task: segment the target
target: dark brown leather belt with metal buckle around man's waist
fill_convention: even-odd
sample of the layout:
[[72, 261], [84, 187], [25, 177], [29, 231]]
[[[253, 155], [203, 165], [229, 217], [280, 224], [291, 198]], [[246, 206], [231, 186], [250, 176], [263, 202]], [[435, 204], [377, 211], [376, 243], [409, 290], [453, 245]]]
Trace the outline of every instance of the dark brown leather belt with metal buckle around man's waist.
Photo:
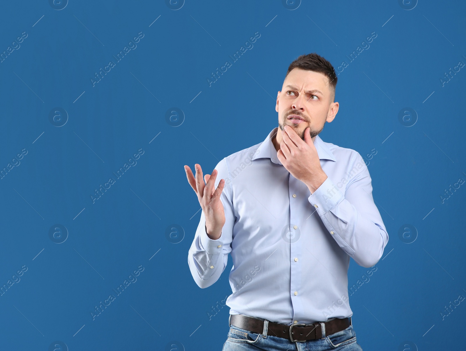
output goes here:
[[[351, 317], [335, 318], [324, 322], [325, 335], [344, 330], [351, 324]], [[264, 320], [244, 315], [230, 315], [229, 323], [235, 327], [249, 330], [253, 333], [262, 334], [264, 331]], [[293, 323], [291, 325], [268, 322], [267, 335], [282, 337], [292, 342], [304, 342], [322, 338], [322, 326], [320, 322], [312, 324]]]

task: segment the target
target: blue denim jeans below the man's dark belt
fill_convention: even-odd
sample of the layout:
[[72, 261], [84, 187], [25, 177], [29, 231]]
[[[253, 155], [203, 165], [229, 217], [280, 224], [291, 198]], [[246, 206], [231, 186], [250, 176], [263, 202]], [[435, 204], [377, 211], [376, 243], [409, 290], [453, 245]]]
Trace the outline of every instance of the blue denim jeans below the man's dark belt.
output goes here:
[[292, 342], [291, 340], [274, 335], [267, 335], [267, 323], [264, 323], [262, 333], [252, 333], [230, 324], [230, 330], [222, 351], [362, 351], [363, 348], [356, 342], [356, 332], [351, 324], [345, 330], [325, 335], [322, 330], [322, 339], [305, 342]]

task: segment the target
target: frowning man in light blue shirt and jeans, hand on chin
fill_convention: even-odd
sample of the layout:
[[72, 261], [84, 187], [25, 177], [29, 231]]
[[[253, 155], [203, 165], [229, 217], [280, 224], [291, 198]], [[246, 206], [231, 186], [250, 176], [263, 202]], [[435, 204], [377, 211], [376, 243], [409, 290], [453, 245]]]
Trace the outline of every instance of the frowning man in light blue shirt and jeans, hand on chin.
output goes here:
[[195, 177], [185, 166], [202, 207], [188, 255], [194, 280], [209, 287], [233, 258], [223, 351], [362, 350], [349, 258], [373, 267], [388, 234], [361, 155], [318, 136], [338, 112], [336, 82], [326, 59], [299, 56], [277, 94], [278, 127], [264, 141], [227, 156], [204, 180], [199, 164]]

